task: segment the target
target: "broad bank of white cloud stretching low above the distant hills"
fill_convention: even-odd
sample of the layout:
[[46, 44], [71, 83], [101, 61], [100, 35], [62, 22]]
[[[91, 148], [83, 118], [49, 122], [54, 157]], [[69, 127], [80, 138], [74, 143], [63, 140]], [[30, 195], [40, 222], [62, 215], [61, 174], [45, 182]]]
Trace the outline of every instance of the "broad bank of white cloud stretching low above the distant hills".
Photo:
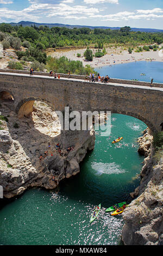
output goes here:
[[[0, 3], [5, 0], [0, 0]], [[32, 3], [32, 0], [28, 0]], [[0, 8], [0, 19], [3, 22], [8, 20], [18, 22], [21, 20], [28, 20], [34, 22], [41, 22], [43, 18], [53, 19], [51, 23], [57, 22], [57, 19], [65, 20], [84, 20], [89, 19], [96, 22], [98, 21], [131, 21], [131, 20], [155, 20], [163, 18], [163, 9], [155, 8], [153, 10], [135, 10], [135, 11], [122, 11], [119, 13], [109, 14], [109, 9], [99, 8], [99, 6], [90, 5], [75, 5], [69, 4], [74, 0], [33, 0], [28, 8], [23, 10], [10, 10], [9, 8]], [[112, 2], [118, 3], [118, 0], [84, 0], [85, 2]], [[6, 0], [7, 2], [7, 0]], [[54, 4], [55, 2], [55, 4]], [[94, 24], [94, 23], [93, 23]], [[121, 25], [121, 23], [120, 23]], [[95, 24], [96, 26], [96, 24]]]

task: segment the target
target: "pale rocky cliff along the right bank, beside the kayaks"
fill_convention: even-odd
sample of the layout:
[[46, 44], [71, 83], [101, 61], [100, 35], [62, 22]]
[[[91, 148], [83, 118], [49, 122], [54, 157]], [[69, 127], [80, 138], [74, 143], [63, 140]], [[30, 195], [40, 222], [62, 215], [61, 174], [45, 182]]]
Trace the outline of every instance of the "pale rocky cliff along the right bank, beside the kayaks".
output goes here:
[[138, 151], [146, 158], [140, 186], [131, 193], [136, 198], [122, 214], [122, 240], [124, 245], [162, 245], [163, 157], [156, 157], [149, 129], [143, 131], [138, 142]]

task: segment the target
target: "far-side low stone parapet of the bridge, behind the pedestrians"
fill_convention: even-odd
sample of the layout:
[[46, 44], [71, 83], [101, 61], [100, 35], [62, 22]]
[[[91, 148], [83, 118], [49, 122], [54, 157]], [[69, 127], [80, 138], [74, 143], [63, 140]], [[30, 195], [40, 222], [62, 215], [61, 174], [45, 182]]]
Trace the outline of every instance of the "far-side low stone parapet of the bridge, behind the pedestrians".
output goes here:
[[[15, 73], [15, 74], [27, 74], [29, 75], [28, 70], [12, 70], [12, 69], [0, 69], [0, 72], [7, 72], [7, 73]], [[58, 75], [59, 73], [57, 73]], [[40, 72], [40, 71], [34, 71], [34, 75], [39, 75], [39, 76], [49, 76], [49, 73], [47, 72]], [[75, 78], [77, 80], [85, 80], [85, 75], [68, 75], [68, 74], [60, 74], [60, 78]], [[96, 78], [96, 77], [95, 77]], [[144, 82], [144, 81], [134, 81], [134, 80], [123, 80], [123, 79], [118, 79], [118, 78], [110, 78], [109, 83], [119, 83], [119, 84], [133, 84], [136, 86], [151, 86], [151, 81], [150, 82]], [[153, 87], [162, 87], [163, 88], [163, 83], [153, 83]]]

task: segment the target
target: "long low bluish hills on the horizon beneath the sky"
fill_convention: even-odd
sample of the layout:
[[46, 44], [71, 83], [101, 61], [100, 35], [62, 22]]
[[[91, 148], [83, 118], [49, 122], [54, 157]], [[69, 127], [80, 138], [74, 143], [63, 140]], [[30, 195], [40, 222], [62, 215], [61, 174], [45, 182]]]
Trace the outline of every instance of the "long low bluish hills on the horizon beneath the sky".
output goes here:
[[[52, 27], [66, 27], [66, 28], [90, 28], [90, 29], [94, 29], [94, 28], [101, 28], [101, 29], [108, 29], [110, 28], [111, 30], [115, 30], [115, 29], [120, 29], [120, 27], [103, 27], [103, 26], [99, 26], [99, 27], [96, 27], [96, 26], [81, 26], [81, 25], [68, 25], [68, 24], [60, 24], [60, 23], [36, 23], [36, 22], [32, 22], [32, 21], [20, 21], [18, 23], [14, 23], [14, 22], [11, 22], [10, 23], [11, 26], [20, 26], [22, 25], [23, 27], [30, 27], [31, 25], [32, 26], [36, 26], [36, 27], [39, 27], [41, 25], [43, 26], [48, 26], [49, 28], [52, 28]], [[163, 32], [162, 29], [154, 29], [154, 28], [131, 28], [131, 31], [140, 31], [140, 32], [151, 32], [151, 33], [159, 33], [159, 32]]]

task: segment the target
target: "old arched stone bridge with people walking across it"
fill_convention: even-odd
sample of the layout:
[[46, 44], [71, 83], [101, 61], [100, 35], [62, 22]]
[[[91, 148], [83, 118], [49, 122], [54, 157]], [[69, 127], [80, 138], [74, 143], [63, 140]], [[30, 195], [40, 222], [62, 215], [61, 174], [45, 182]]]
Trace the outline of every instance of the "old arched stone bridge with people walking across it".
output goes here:
[[[17, 72], [17, 73], [16, 73]], [[111, 111], [142, 120], [152, 132], [163, 123], [163, 84], [110, 79], [109, 83], [84, 81], [83, 76], [61, 75], [60, 79], [35, 72], [0, 70], [0, 102], [8, 102], [19, 118], [33, 111], [35, 100], [53, 111], [66, 106], [75, 111]], [[10, 102], [9, 102], [10, 100]], [[1, 107], [0, 107], [1, 109]]]

